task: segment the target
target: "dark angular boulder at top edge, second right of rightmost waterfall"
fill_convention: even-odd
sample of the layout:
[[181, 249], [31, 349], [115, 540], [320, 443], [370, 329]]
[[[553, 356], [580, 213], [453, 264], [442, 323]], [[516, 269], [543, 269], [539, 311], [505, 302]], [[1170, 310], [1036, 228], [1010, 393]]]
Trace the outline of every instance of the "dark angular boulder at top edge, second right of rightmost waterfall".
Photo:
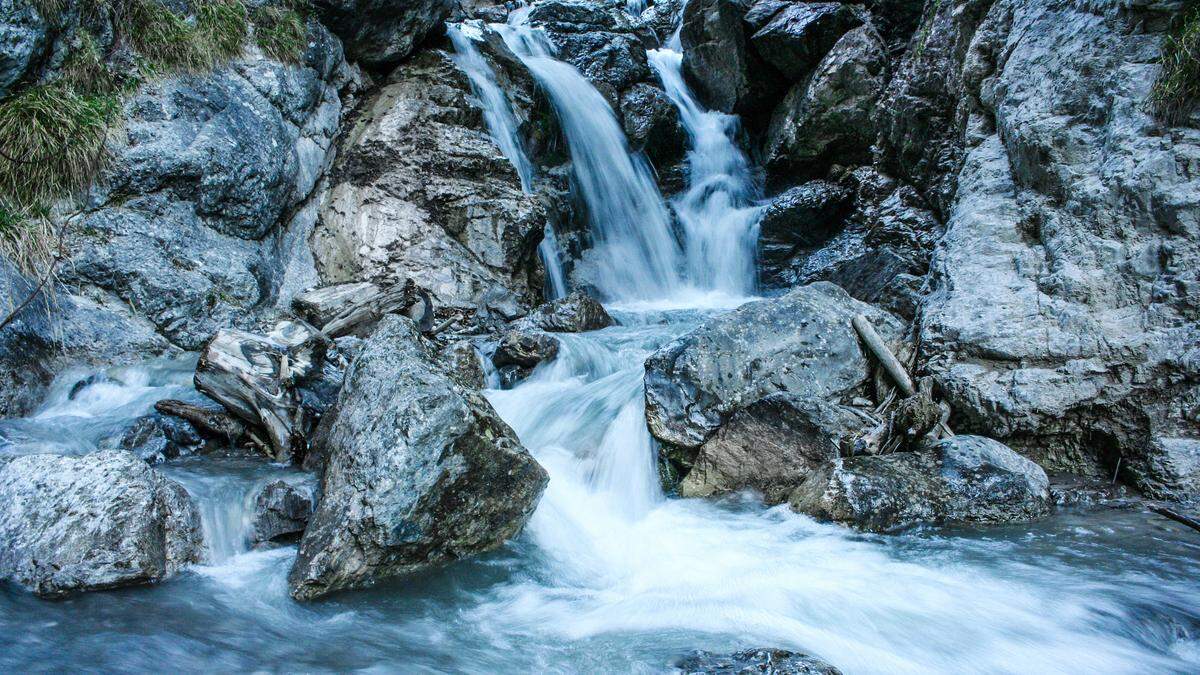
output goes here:
[[760, 0], [751, 10], [757, 11], [749, 20], [762, 25], [750, 36], [750, 43], [788, 82], [806, 76], [846, 31], [863, 24], [841, 2]]

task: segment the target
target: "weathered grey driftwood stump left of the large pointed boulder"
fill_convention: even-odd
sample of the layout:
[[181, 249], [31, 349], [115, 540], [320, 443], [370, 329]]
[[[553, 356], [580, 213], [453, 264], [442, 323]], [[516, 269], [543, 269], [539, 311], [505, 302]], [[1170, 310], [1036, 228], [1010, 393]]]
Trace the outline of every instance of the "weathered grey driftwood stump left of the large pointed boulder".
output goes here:
[[244, 330], [221, 330], [204, 346], [196, 388], [229, 412], [260, 428], [257, 435], [276, 461], [292, 461], [304, 449], [308, 411], [294, 388], [320, 368], [324, 344], [307, 339], [286, 344]]

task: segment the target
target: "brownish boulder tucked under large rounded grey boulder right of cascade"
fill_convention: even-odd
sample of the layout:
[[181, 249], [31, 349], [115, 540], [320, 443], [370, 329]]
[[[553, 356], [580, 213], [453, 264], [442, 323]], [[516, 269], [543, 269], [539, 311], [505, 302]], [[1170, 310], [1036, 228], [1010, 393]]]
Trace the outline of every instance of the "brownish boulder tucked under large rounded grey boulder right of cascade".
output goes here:
[[823, 465], [848, 455], [870, 423], [850, 408], [794, 394], [770, 394], [736, 411], [696, 454], [679, 495], [707, 497], [746, 488], [768, 503]]

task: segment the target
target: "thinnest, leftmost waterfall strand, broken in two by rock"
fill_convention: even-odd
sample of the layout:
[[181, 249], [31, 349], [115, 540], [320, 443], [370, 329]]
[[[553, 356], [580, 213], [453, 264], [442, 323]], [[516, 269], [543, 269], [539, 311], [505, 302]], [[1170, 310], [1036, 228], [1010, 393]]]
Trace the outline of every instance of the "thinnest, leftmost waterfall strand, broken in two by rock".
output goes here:
[[[462, 24], [446, 24], [446, 34], [455, 49], [455, 64], [467, 73], [472, 90], [479, 97], [484, 107], [484, 121], [492, 139], [499, 147], [500, 153], [512, 163], [521, 178], [521, 190], [524, 193], [533, 191], [533, 162], [526, 154], [521, 143], [516, 117], [512, 114], [512, 106], [508, 96], [496, 82], [496, 72], [487, 60], [475, 47], [475, 40], [482, 37], [481, 25], [474, 22]], [[547, 295], [551, 300], [566, 294], [566, 276], [563, 273], [563, 261], [558, 250], [558, 237], [554, 226], [546, 222], [546, 229], [541, 243], [538, 244], [538, 253], [541, 256], [542, 265], [546, 268]]]

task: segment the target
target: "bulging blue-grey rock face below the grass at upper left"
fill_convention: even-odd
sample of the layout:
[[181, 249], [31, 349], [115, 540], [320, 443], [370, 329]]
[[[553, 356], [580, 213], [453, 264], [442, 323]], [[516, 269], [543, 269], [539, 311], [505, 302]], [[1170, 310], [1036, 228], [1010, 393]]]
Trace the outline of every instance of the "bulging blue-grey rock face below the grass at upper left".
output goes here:
[[62, 280], [190, 350], [270, 310], [311, 267], [281, 226], [311, 225], [290, 214], [325, 167], [349, 78], [336, 38], [312, 24], [308, 44], [295, 65], [247, 58], [144, 85], [68, 229]]

